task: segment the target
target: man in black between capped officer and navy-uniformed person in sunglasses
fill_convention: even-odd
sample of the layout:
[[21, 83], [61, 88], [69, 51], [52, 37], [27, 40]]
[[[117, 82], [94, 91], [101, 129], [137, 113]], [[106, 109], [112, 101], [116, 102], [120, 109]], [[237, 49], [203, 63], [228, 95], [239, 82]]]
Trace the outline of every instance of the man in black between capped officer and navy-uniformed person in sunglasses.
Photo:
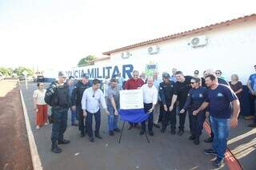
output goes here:
[[[184, 76], [181, 71], [177, 71], [175, 73], [176, 77], [176, 90], [178, 94], [178, 108], [182, 109], [186, 103], [186, 97], [191, 88], [190, 81], [192, 79], [191, 76]], [[179, 130], [178, 136], [182, 136], [184, 133], [184, 125], [186, 121], [186, 111], [184, 113], [179, 113]]]

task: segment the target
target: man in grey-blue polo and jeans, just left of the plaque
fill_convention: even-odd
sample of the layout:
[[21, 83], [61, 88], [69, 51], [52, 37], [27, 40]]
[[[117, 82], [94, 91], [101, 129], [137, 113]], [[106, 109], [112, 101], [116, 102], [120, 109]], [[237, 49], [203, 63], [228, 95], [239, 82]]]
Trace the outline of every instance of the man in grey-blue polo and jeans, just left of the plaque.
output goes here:
[[106, 89], [106, 105], [110, 112], [108, 115], [109, 134], [114, 136], [114, 132], [120, 132], [118, 128], [118, 110], [120, 109], [120, 93], [122, 86], [117, 82], [117, 79], [110, 80], [110, 87]]

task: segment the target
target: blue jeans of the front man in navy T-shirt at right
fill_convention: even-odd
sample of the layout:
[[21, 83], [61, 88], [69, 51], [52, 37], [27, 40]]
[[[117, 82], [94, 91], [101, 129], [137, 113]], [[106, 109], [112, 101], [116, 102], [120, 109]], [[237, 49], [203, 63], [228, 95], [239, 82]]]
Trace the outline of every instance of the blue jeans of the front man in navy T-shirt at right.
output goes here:
[[230, 132], [230, 119], [210, 117], [211, 129], [214, 132], [213, 149], [217, 152], [218, 160], [224, 158], [227, 148], [227, 138]]

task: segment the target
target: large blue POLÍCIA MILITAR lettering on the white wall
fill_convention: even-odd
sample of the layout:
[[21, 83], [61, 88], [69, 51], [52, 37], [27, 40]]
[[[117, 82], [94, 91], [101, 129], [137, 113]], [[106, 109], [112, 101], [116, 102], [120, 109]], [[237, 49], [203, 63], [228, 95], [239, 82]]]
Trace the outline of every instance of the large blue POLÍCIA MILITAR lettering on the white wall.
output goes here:
[[74, 70], [66, 71], [66, 74], [70, 77], [80, 78], [83, 73], [89, 78], [104, 78], [104, 77], [116, 77], [118, 73], [122, 73], [122, 77], [130, 78], [132, 77], [131, 73], [134, 71], [133, 65], [114, 65], [114, 66], [106, 66], [106, 67], [93, 67], [93, 68], [76, 68]]

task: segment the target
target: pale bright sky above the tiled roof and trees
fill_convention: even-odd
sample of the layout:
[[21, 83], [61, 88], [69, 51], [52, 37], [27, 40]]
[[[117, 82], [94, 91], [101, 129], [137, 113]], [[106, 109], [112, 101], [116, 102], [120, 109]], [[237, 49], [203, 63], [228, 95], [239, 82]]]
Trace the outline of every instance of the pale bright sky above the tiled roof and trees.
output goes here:
[[0, 0], [0, 66], [82, 57], [256, 13], [254, 0]]

